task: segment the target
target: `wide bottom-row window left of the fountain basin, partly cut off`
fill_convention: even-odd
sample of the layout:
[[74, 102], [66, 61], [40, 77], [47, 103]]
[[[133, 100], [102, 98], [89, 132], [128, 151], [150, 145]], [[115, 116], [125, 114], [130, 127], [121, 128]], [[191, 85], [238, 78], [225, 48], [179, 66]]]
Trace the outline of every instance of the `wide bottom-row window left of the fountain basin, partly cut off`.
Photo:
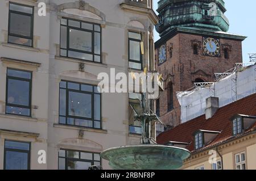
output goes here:
[[100, 154], [73, 150], [59, 151], [59, 170], [88, 170], [92, 165], [101, 166]]

